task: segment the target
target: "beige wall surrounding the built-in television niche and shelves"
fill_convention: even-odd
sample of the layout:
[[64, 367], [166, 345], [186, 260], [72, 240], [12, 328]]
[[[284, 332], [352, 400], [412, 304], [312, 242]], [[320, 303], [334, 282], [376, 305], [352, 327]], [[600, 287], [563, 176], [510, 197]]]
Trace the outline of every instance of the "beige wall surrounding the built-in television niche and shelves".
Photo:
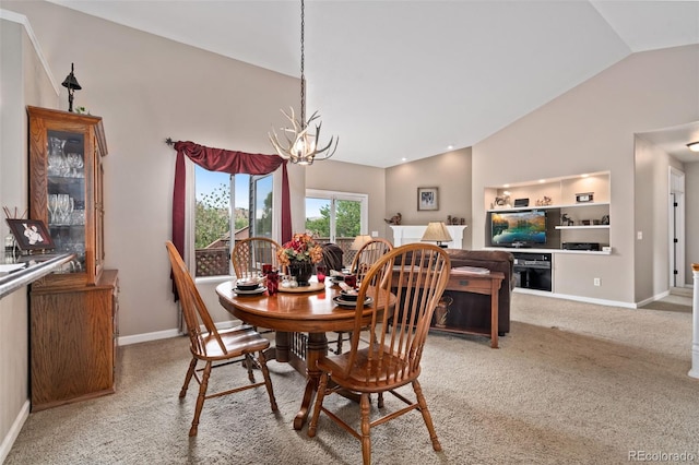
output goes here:
[[[557, 255], [560, 293], [631, 305], [652, 296], [652, 287], [635, 278], [636, 270], [652, 265], [635, 260], [635, 199], [651, 189], [635, 183], [635, 133], [698, 120], [697, 102], [699, 46], [635, 53], [477, 143], [474, 248], [485, 243], [486, 186], [609, 171], [614, 253]], [[603, 285], [593, 286], [593, 277]]]

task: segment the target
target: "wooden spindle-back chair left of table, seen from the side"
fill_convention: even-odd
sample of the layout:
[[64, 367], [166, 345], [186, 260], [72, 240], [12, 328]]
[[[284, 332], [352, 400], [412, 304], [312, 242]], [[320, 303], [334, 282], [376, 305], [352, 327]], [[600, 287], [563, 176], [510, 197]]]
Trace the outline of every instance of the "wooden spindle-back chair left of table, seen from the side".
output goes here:
[[[225, 331], [218, 331], [209, 314], [209, 310], [206, 310], [206, 306], [201, 299], [197, 287], [194, 286], [194, 281], [189, 274], [187, 265], [185, 265], [182, 258], [175, 248], [175, 245], [167, 241], [166, 247], [167, 253], [170, 258], [170, 264], [173, 266], [173, 275], [175, 276], [175, 285], [177, 286], [177, 291], [179, 294], [182, 314], [185, 315], [185, 322], [187, 324], [187, 332], [189, 334], [190, 342], [189, 349], [192, 354], [192, 360], [189, 363], [189, 369], [185, 377], [185, 384], [179, 392], [179, 397], [185, 397], [187, 394], [187, 388], [189, 386], [192, 378], [194, 378], [199, 383], [199, 396], [197, 397], [194, 419], [192, 420], [192, 427], [189, 430], [189, 436], [197, 436], [199, 417], [201, 415], [204, 401], [212, 397], [233, 394], [252, 388], [265, 386], [272, 405], [272, 412], [276, 412], [277, 406], [276, 400], [274, 398], [274, 391], [272, 390], [272, 380], [270, 379], [270, 372], [266, 368], [266, 360], [263, 354], [263, 350], [270, 346], [270, 342], [254, 331], [252, 326], [247, 324], [241, 324]], [[253, 357], [254, 353], [258, 353], [257, 358]], [[238, 360], [245, 362], [250, 384], [244, 384], [226, 391], [206, 394], [209, 377], [211, 375], [212, 369], [224, 362], [229, 363]], [[205, 363], [203, 370], [197, 369], [199, 361], [203, 361]], [[214, 365], [215, 362], [217, 365]], [[259, 367], [260, 371], [262, 371], [262, 377], [264, 378], [263, 382], [256, 382], [254, 374], [252, 372], [253, 367]], [[199, 377], [199, 371], [203, 371], [201, 378]]]

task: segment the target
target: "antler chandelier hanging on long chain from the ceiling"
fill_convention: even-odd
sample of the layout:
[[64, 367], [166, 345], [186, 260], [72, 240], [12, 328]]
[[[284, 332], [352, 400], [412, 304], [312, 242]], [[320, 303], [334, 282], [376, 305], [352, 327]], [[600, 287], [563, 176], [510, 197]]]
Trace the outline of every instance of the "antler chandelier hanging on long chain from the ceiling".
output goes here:
[[[320, 128], [322, 122], [318, 122], [316, 126], [316, 132], [309, 133], [310, 123], [320, 118], [318, 111], [315, 111], [308, 121], [306, 120], [306, 76], [304, 74], [304, 0], [301, 0], [301, 115], [299, 119], [296, 119], [294, 108], [289, 108], [289, 112], [282, 110], [282, 114], [292, 123], [291, 128], [282, 128], [284, 139], [286, 139], [286, 145], [282, 145], [276, 132], [272, 130], [269, 134], [270, 142], [280, 154], [282, 158], [286, 158], [294, 164], [299, 165], [312, 165], [316, 159], [328, 159], [335, 154], [337, 150], [337, 142], [340, 138], [331, 136], [328, 145], [322, 148], [319, 147], [318, 141], [320, 140]], [[317, 158], [319, 155], [322, 157]]]

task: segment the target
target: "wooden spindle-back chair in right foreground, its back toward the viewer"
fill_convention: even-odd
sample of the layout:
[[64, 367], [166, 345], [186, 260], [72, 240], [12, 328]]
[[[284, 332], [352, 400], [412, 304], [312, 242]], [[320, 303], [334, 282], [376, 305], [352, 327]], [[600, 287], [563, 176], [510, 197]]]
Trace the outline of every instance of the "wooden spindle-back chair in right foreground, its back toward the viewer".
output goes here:
[[[350, 350], [321, 358], [317, 362], [321, 378], [308, 426], [309, 437], [316, 436], [320, 413], [323, 412], [362, 442], [362, 457], [364, 464], [368, 465], [371, 463], [371, 428], [416, 409], [427, 426], [433, 449], [441, 451], [417, 379], [429, 323], [447, 287], [449, 270], [449, 255], [443, 249], [422, 243], [398, 247], [369, 269], [359, 287]], [[391, 310], [383, 310], [390, 308], [391, 291], [395, 295], [395, 306]], [[366, 317], [363, 313], [367, 297], [372, 297], [375, 301], [369, 303], [372, 309], [371, 324], [365, 329]], [[363, 330], [367, 337], [362, 336]], [[395, 391], [406, 384], [412, 384], [415, 400], [408, 400]], [[331, 412], [323, 405], [325, 396], [337, 393], [346, 395], [347, 391], [358, 394], [360, 398], [359, 429], [342, 419], [340, 412]], [[379, 394], [377, 406], [382, 410], [383, 393], [387, 392], [407, 406], [388, 414], [372, 412], [370, 394]]]

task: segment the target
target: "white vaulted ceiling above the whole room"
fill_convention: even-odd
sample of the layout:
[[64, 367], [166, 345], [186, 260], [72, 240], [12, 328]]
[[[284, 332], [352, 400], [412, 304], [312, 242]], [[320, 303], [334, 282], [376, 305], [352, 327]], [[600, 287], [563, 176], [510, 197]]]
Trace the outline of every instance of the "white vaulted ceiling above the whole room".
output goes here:
[[[300, 73], [300, 1], [51, 1]], [[306, 0], [307, 108], [340, 136], [333, 159], [389, 167], [471, 146], [632, 52], [698, 43], [698, 1]], [[662, 143], [680, 157], [683, 136]]]

